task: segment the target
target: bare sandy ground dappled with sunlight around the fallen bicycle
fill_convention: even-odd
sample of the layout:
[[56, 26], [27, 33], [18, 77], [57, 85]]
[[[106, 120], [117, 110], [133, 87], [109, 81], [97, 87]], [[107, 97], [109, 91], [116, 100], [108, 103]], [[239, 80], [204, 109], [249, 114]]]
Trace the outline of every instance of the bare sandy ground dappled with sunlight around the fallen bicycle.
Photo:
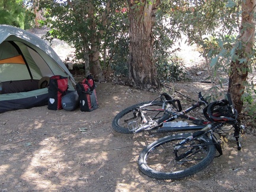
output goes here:
[[[196, 78], [196, 76], [195, 76]], [[209, 84], [169, 85], [197, 100]], [[162, 90], [166, 91], [166, 90]], [[254, 191], [256, 134], [242, 137], [242, 150], [223, 143], [223, 155], [199, 174], [183, 180], [155, 180], [137, 167], [142, 149], [164, 135], [125, 135], [111, 127], [113, 117], [159, 92], [111, 82], [97, 85], [100, 108], [91, 112], [52, 111], [47, 106], [0, 114], [1, 191]], [[177, 92], [184, 105], [194, 103]]]

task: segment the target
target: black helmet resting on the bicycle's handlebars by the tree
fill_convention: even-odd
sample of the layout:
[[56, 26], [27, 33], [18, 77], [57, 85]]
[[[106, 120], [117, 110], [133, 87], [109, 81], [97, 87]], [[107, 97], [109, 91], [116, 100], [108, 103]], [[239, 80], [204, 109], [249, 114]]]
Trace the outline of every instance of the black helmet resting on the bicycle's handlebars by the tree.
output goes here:
[[238, 116], [237, 111], [233, 111], [235, 112], [234, 114], [232, 113], [232, 106], [229, 105], [228, 100], [220, 100], [207, 105], [203, 113], [204, 117], [209, 121], [233, 123]]

